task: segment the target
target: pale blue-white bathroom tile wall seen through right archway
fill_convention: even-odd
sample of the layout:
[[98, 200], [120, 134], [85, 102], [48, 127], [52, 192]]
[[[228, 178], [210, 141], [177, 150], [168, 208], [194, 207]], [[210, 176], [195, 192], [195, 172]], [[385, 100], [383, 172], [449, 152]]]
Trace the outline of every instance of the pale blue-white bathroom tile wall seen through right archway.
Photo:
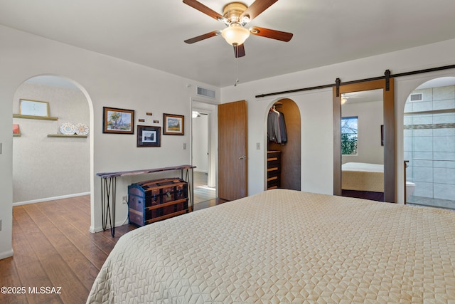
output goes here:
[[423, 100], [405, 105], [406, 178], [416, 184], [414, 196], [455, 200], [455, 85], [412, 93]]

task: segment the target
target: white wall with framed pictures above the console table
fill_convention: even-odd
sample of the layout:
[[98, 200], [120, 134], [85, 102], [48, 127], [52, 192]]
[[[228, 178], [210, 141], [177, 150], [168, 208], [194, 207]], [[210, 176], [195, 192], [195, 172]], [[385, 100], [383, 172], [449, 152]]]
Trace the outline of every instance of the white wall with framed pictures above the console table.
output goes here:
[[[146, 68], [117, 58], [85, 51], [28, 33], [0, 26], [0, 258], [11, 256], [12, 236], [12, 159], [11, 125], [14, 94], [23, 81], [36, 75], [64, 76], [80, 86], [90, 109], [90, 192], [92, 223], [90, 231], [101, 229], [101, 189], [97, 172], [190, 164], [191, 98], [196, 96], [196, 83], [176, 75]], [[217, 88], [211, 88], [220, 95]], [[216, 100], [215, 100], [216, 103]], [[185, 115], [184, 136], [163, 135], [161, 147], [137, 148], [134, 135], [102, 133], [102, 107], [135, 110], [137, 117], [163, 120], [163, 113]], [[172, 173], [174, 176], [176, 172]], [[135, 177], [135, 179], [152, 178]], [[127, 218], [122, 196], [135, 179], [117, 179], [117, 224]]]

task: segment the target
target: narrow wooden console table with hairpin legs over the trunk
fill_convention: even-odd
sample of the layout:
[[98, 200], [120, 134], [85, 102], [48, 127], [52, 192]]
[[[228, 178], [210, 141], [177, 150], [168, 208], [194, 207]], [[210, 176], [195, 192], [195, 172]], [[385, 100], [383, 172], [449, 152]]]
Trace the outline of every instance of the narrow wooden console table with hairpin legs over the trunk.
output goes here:
[[[101, 213], [102, 213], [102, 230], [107, 228], [107, 219], [111, 229], [111, 235], [115, 235], [115, 196], [117, 192], [117, 177], [126, 177], [129, 175], [149, 174], [164, 171], [180, 170], [181, 179], [188, 182], [188, 209], [193, 211], [193, 169], [195, 166], [183, 164], [176, 167], [165, 167], [155, 169], [121, 171], [121, 172], [105, 172], [97, 173], [101, 177]], [[190, 178], [191, 174], [191, 178]]]

